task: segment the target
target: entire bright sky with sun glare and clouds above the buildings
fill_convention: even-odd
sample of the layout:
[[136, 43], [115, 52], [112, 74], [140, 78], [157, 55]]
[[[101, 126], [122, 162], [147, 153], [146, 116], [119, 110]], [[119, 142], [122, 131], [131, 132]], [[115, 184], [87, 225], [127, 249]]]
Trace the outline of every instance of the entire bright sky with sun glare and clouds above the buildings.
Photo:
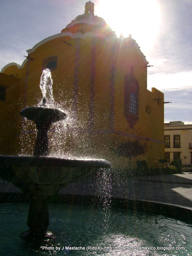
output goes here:
[[[58, 34], [88, 0], [0, 0], [0, 70], [22, 64], [26, 50]], [[148, 90], [164, 92], [164, 121], [192, 124], [192, 0], [92, 0], [119, 37], [129, 34], [146, 56]]]

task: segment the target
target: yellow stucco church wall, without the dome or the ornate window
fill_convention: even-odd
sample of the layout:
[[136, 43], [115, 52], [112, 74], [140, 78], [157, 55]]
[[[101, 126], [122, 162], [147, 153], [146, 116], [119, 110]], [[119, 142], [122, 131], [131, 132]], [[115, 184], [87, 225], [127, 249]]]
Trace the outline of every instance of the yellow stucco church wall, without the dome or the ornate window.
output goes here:
[[[53, 97], [70, 116], [70, 121], [65, 124], [62, 132], [52, 129], [49, 134], [52, 141], [55, 141], [54, 135], [57, 135], [60, 153], [105, 158], [111, 161], [115, 168], [128, 168], [128, 159], [117, 156], [114, 149], [123, 141], [139, 140], [147, 144], [147, 149], [144, 155], [132, 159], [133, 166], [136, 160], [146, 160], [149, 167], [160, 166], [158, 159], [164, 158], [164, 106], [163, 100], [158, 104], [154, 99], [164, 96], [155, 88], [152, 92], [147, 90], [147, 62], [139, 52], [138, 46], [130, 47], [130, 38], [109, 40], [106, 37], [92, 35], [72, 38], [66, 33], [68, 32], [45, 40], [30, 50], [29, 56], [33, 60], [28, 59], [23, 68], [18, 69], [12, 65], [3, 71], [7, 75], [17, 74], [17, 78], [20, 78], [17, 92], [10, 92], [15, 104], [19, 102], [14, 113], [16, 117], [10, 116], [17, 127], [17, 132], [6, 131], [9, 134], [8, 140], [14, 141], [15, 152], [33, 152], [36, 136], [34, 124], [23, 120], [19, 112], [23, 107], [35, 106], [40, 102], [42, 94], [39, 83], [43, 61], [51, 56], [57, 56], [57, 68], [51, 71]], [[71, 46], [62, 41], [68, 42]], [[124, 116], [124, 81], [131, 66], [139, 84], [139, 118], [133, 128], [130, 128]], [[77, 108], [74, 107], [75, 87]], [[7, 104], [8, 108], [10, 103], [3, 104]], [[150, 114], [146, 112], [147, 105], [151, 108]], [[56, 146], [51, 147], [51, 152], [54, 152]], [[2, 152], [1, 150], [0, 153]], [[12, 154], [7, 148], [6, 153], [9, 152]]]

